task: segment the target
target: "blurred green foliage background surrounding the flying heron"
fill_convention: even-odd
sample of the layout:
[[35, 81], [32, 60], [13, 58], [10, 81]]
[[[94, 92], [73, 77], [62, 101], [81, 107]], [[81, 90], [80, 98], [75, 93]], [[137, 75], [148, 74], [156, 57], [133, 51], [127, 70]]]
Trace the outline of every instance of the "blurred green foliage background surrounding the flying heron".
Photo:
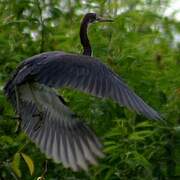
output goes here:
[[111, 100], [60, 90], [104, 144], [106, 157], [88, 172], [74, 173], [48, 160], [48, 180], [180, 179], [179, 0], [0, 1], [0, 180], [37, 179], [45, 156], [23, 132], [15, 132], [3, 86], [22, 60], [44, 51], [81, 53], [83, 15], [114, 22], [92, 24], [93, 56], [165, 117], [148, 120]]

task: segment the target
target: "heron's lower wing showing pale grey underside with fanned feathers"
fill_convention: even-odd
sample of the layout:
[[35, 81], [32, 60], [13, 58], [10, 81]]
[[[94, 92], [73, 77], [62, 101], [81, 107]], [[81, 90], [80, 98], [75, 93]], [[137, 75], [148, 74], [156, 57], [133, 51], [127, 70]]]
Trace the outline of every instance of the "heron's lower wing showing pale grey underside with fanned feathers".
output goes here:
[[18, 91], [22, 129], [48, 157], [74, 171], [87, 170], [89, 164], [97, 164], [97, 157], [103, 157], [95, 134], [62, 103], [54, 90], [26, 83]]

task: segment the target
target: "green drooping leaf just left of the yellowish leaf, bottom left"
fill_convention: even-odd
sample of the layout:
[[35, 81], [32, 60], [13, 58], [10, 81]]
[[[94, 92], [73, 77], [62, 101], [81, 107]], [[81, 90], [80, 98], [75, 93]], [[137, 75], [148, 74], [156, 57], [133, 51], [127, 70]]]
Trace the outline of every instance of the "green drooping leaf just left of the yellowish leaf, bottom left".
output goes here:
[[17, 177], [21, 178], [22, 174], [21, 174], [21, 170], [19, 169], [20, 167], [20, 153], [16, 153], [13, 157], [13, 161], [11, 163], [11, 168], [13, 170], [13, 172], [16, 174]]

